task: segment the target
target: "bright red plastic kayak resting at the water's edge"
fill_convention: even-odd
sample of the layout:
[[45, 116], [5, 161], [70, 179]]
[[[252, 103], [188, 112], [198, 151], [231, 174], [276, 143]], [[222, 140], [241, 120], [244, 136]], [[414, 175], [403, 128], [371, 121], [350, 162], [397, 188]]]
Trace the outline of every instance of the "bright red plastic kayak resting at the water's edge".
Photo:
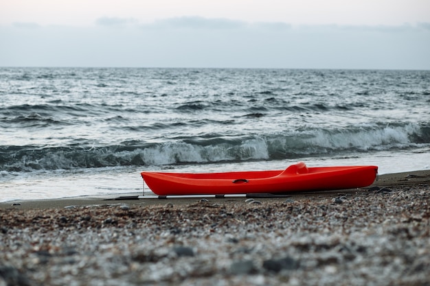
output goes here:
[[284, 170], [225, 173], [164, 173], [143, 171], [142, 178], [157, 195], [230, 195], [292, 191], [354, 189], [372, 184], [377, 166], [307, 167], [300, 162]]

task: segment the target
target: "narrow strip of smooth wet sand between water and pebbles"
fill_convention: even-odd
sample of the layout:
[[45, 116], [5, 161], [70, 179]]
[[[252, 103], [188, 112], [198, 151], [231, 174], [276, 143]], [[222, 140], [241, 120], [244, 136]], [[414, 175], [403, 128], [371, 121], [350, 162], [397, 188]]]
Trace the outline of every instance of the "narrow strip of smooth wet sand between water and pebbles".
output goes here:
[[[347, 190], [333, 190], [333, 191], [315, 191], [315, 192], [300, 192], [300, 193], [286, 193], [282, 195], [280, 198], [258, 198], [258, 200], [262, 200], [264, 202], [276, 202], [278, 200], [282, 200], [282, 198], [302, 198], [308, 197], [312, 195], [316, 196], [330, 196], [333, 193], [356, 193], [358, 191], [365, 191], [371, 187], [398, 187], [404, 185], [411, 184], [423, 184], [430, 182], [430, 170], [419, 170], [419, 171], [406, 171], [394, 174], [383, 174], [379, 175], [377, 180], [369, 187], [364, 187], [360, 189], [347, 189]], [[126, 197], [133, 197], [131, 200], [126, 200]], [[156, 195], [150, 195], [148, 197], [142, 196], [139, 193], [129, 193], [129, 194], [121, 194], [121, 195], [98, 195], [98, 196], [80, 196], [80, 197], [72, 197], [72, 198], [56, 198], [56, 199], [47, 199], [47, 200], [10, 200], [7, 202], [0, 202], [0, 209], [5, 208], [20, 208], [20, 209], [40, 209], [40, 208], [65, 208], [71, 206], [85, 206], [85, 205], [107, 205], [107, 204], [146, 204], [146, 205], [163, 205], [168, 202], [178, 204], [178, 205], [186, 205], [191, 204], [193, 202], [201, 200], [201, 198], [207, 198], [208, 200], [214, 201], [216, 203], [231, 203], [238, 202], [242, 200], [246, 200], [245, 195], [238, 196], [227, 196], [225, 198], [214, 198], [214, 195], [199, 195], [194, 198], [181, 198], [181, 196], [177, 197], [169, 197], [169, 198], [157, 198]], [[15, 205], [13, 205], [15, 204]]]

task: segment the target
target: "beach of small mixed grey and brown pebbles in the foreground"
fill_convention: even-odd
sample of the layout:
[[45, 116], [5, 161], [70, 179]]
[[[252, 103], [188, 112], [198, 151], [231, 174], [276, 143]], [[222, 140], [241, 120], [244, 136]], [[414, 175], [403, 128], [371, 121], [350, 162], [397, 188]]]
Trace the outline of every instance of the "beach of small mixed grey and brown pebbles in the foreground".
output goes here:
[[284, 198], [0, 204], [0, 286], [430, 285], [430, 171]]

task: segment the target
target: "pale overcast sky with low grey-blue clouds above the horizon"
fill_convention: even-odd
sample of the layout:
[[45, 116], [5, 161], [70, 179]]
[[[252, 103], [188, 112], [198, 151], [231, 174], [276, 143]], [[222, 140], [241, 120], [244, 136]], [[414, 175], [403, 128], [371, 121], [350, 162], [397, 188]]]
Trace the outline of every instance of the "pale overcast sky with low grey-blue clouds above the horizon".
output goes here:
[[430, 0], [0, 0], [0, 67], [430, 69]]

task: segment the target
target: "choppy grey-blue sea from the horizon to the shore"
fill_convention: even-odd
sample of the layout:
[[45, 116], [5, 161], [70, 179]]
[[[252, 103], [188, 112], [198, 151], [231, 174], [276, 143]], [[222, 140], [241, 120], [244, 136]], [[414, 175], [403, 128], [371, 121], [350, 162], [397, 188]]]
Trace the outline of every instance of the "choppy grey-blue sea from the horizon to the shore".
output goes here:
[[430, 169], [430, 71], [0, 68], [0, 202], [299, 161]]

